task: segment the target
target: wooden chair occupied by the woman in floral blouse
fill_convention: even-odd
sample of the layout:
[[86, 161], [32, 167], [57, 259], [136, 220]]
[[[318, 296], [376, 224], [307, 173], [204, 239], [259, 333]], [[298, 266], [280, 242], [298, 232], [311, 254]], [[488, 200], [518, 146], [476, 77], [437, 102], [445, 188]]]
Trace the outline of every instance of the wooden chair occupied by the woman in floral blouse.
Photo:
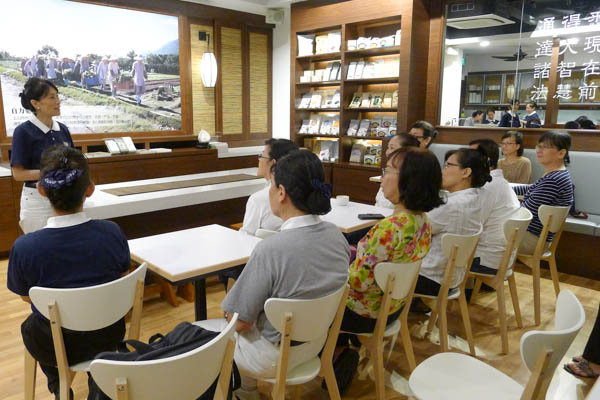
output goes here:
[[385, 399], [385, 370], [383, 366], [385, 338], [392, 337], [390, 352], [388, 353], [389, 358], [389, 354], [391, 354], [396, 338], [398, 337], [398, 332], [400, 332], [410, 370], [414, 370], [417, 366], [408, 330], [408, 310], [410, 309], [409, 305], [412, 301], [415, 286], [417, 285], [421, 262], [422, 260], [412, 263], [384, 262], [375, 266], [375, 281], [380, 288], [383, 288], [380, 310], [389, 310], [392, 299], [404, 299], [405, 304], [400, 317], [395, 322], [386, 326], [388, 313], [380, 312], [377, 316], [373, 333], [356, 334], [362, 345], [368, 350], [371, 361], [374, 364], [375, 398], [377, 400]]

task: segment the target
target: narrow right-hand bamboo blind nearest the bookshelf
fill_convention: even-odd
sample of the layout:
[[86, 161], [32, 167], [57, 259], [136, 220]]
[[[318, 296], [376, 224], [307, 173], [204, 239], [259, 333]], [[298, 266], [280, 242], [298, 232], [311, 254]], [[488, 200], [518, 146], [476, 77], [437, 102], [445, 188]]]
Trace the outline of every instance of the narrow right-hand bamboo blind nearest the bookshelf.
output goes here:
[[269, 36], [250, 32], [250, 134], [269, 131]]

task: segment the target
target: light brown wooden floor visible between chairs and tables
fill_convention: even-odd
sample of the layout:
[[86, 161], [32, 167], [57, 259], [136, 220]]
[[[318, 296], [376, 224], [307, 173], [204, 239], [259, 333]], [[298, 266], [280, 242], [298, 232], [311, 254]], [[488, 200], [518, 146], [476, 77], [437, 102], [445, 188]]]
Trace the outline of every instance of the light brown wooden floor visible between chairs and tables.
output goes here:
[[[0, 399], [21, 400], [23, 399], [23, 344], [21, 341], [20, 324], [29, 314], [30, 310], [29, 306], [22, 302], [18, 296], [6, 289], [7, 264], [7, 260], [0, 260], [0, 304], [2, 304], [2, 319], [0, 320]], [[521, 362], [519, 339], [524, 332], [534, 328], [531, 276], [524, 272], [526, 271], [522, 271], [516, 275], [523, 315], [523, 329], [516, 328], [514, 317], [512, 316], [512, 305], [507, 303], [507, 312], [510, 316], [510, 354], [506, 356], [499, 355], [500, 339], [497, 335], [498, 329], [496, 328], [495, 294], [483, 293], [479, 297], [477, 304], [470, 307], [471, 323], [473, 325], [478, 357], [512, 376], [520, 383], [527, 381], [529, 373]], [[545, 278], [542, 279], [542, 329], [552, 328], [555, 303], [552, 282], [547, 279], [547, 276]], [[561, 276], [561, 288], [570, 289], [575, 293], [582, 302], [587, 316], [583, 329], [565, 356], [566, 361], [568, 358], [580, 354], [585, 346], [598, 310], [600, 282], [564, 275]], [[208, 284], [207, 293], [209, 318], [222, 317], [222, 311], [219, 307], [224, 297], [222, 286], [216, 281], [211, 281]], [[508, 293], [507, 298], [507, 301], [510, 302]], [[142, 318], [142, 340], [148, 340], [156, 332], [165, 333], [181, 321], [191, 321], [193, 319], [192, 304], [184, 300], [181, 300], [181, 302], [182, 304], [175, 308], [159, 298], [147, 300], [144, 303]], [[461, 339], [461, 337], [464, 337], [464, 334], [457, 309], [452, 309], [450, 312], [449, 326], [451, 335], [458, 335], [451, 338], [450, 344], [466, 349], [466, 343]], [[430, 338], [419, 338], [419, 336], [422, 337], [422, 331], [422, 318], [413, 319], [411, 321], [411, 332], [413, 333], [413, 346], [417, 363], [438, 352], [439, 348], [430, 341]], [[432, 336], [435, 337], [435, 332]], [[406, 378], [408, 378], [409, 372], [400, 341], [398, 341], [387, 363], [387, 370], [392, 372], [388, 376], [389, 387], [387, 388], [387, 399], [408, 399], [407, 394], [410, 394], [410, 392]], [[575, 379], [563, 371], [562, 367], [559, 367], [551, 385], [551, 390], [556, 393], [552, 398], [555, 400], [583, 399], [583, 396], [591, 387], [591, 383]], [[73, 389], [75, 391], [75, 399], [81, 400], [86, 398], [87, 380], [85, 375], [78, 374], [75, 378]], [[260, 390], [264, 399], [270, 398], [267, 395], [270, 391], [267, 385], [261, 385]], [[374, 393], [375, 387], [372, 380], [368, 377], [363, 380], [355, 378], [344, 399], [373, 399], [375, 397]], [[41, 371], [38, 372], [36, 395], [37, 399], [41, 400], [53, 399], [46, 389], [45, 377]], [[320, 382], [317, 380], [305, 385], [302, 397], [317, 400], [328, 398], [326, 392], [321, 389]]]

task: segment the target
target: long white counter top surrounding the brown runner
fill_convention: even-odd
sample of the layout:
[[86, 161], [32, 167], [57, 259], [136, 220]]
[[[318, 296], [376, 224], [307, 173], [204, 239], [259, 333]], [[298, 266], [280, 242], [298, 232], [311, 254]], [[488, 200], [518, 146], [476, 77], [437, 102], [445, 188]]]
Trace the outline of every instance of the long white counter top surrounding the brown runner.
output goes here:
[[234, 174], [256, 175], [257, 171], [258, 168], [243, 168], [230, 171], [208, 172], [202, 174], [171, 176], [167, 178], [144, 179], [139, 181], [97, 185], [92, 197], [87, 199], [84, 203], [83, 209], [90, 218], [109, 219], [246, 197], [264, 188], [266, 184], [265, 179], [257, 177], [256, 179], [246, 181], [163, 190], [159, 192], [133, 194], [128, 196], [115, 196], [103, 192], [102, 190], [148, 185], [153, 183], [211, 178], [215, 176]]

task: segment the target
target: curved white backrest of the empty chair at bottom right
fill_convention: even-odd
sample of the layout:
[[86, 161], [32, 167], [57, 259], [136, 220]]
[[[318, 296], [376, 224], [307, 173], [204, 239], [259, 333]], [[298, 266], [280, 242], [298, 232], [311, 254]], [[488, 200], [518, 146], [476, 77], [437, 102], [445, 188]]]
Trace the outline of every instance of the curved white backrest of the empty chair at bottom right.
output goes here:
[[559, 293], [554, 321], [555, 329], [552, 331], [529, 331], [521, 337], [521, 357], [530, 371], [540, 352], [552, 350], [545, 373], [552, 376], [585, 322], [583, 306], [570, 290], [563, 289]]

